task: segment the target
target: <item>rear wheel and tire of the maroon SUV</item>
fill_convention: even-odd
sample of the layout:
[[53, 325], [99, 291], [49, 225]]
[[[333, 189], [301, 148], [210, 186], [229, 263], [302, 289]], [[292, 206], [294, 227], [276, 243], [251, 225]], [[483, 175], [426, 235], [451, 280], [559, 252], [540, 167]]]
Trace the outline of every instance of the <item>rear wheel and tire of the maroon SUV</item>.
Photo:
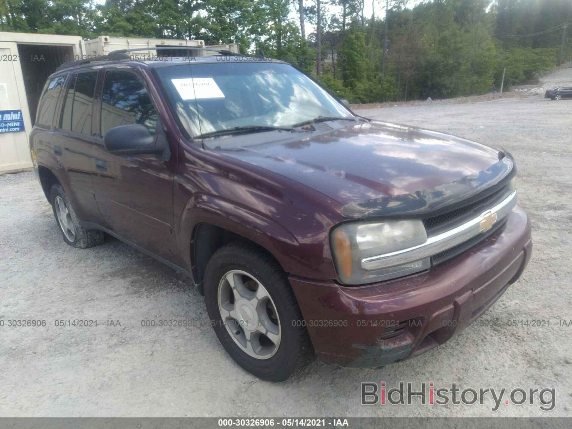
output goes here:
[[[86, 249], [104, 242], [103, 231], [85, 229], [80, 226], [80, 221], [77, 219], [76, 212], [63, 191], [62, 185], [55, 184], [51, 186], [50, 197], [55, 223], [57, 223], [58, 228], [62, 232], [63, 241], [78, 249]], [[61, 216], [62, 220], [59, 216]]]

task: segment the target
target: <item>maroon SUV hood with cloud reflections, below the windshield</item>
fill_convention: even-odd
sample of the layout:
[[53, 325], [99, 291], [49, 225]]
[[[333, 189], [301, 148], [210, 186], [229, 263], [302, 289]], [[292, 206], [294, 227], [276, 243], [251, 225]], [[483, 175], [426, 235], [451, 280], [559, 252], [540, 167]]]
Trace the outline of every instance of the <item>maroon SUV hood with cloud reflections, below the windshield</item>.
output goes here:
[[[490, 169], [504, 157], [464, 138], [388, 122], [337, 121], [315, 127], [312, 133], [276, 132], [288, 137], [261, 144], [253, 144], [251, 135], [248, 146], [223, 152], [301, 182], [342, 205], [439, 189], [471, 177], [480, 177], [482, 187], [489, 176], [498, 176]], [[507, 166], [502, 169], [506, 173]]]

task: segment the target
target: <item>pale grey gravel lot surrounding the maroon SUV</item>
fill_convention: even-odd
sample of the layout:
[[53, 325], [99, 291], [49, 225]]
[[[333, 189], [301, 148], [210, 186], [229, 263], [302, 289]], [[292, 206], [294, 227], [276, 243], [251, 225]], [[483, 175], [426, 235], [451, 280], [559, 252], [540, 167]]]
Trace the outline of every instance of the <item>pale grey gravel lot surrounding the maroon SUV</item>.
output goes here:
[[[572, 81], [572, 69], [558, 79]], [[184, 276], [119, 241], [66, 245], [33, 173], [0, 176], [0, 416], [545, 416], [539, 404], [361, 406], [360, 382], [434, 382], [460, 389], [554, 387], [550, 416], [572, 416], [572, 100], [518, 96], [469, 104], [361, 110], [505, 148], [519, 168], [519, 202], [533, 221], [529, 268], [473, 325], [416, 359], [378, 370], [312, 363], [284, 383], [256, 379], [227, 356], [204, 301]], [[55, 327], [95, 319], [97, 327]], [[195, 327], [144, 328], [142, 319]], [[509, 327], [507, 320], [550, 320]], [[112, 320], [120, 326], [108, 326]], [[51, 323], [51, 325], [50, 325]], [[490, 397], [489, 397], [490, 398]]]

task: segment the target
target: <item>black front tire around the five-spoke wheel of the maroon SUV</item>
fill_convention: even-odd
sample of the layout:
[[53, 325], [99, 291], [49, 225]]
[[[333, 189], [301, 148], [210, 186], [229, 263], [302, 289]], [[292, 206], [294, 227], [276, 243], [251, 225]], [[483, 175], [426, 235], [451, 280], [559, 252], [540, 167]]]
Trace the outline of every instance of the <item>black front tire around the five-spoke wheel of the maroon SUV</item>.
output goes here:
[[[234, 279], [236, 288], [230, 287], [230, 277]], [[246, 291], [243, 288], [245, 285], [249, 285], [251, 289], [255, 288], [256, 291]], [[260, 285], [264, 291], [261, 291]], [[257, 299], [257, 305], [252, 308], [248, 307], [248, 303], [240, 304], [247, 302], [244, 297], [239, 296], [239, 300], [233, 298], [234, 304], [225, 301], [227, 297], [237, 296], [235, 291], [240, 288], [255, 294], [256, 297], [263, 297]], [[269, 297], [264, 296], [265, 292], [268, 292]], [[256, 246], [234, 241], [215, 252], [206, 266], [205, 302], [211, 325], [224, 349], [237, 364], [251, 374], [271, 382], [281, 382], [300, 372], [313, 359], [308, 332], [302, 323], [296, 323], [303, 319], [286, 273], [271, 256]], [[236, 319], [223, 320], [223, 313], [227, 313], [225, 305], [228, 305], [228, 308], [234, 306]], [[265, 308], [263, 314], [260, 313], [261, 306]], [[252, 316], [249, 308], [257, 312], [257, 315]], [[227, 316], [231, 314], [228, 312]], [[270, 321], [265, 319], [265, 314]], [[249, 325], [251, 316], [256, 320]], [[250, 351], [247, 351], [248, 346], [240, 345], [244, 344], [245, 334], [255, 325], [265, 330], [268, 335], [274, 333], [273, 339], [276, 339], [274, 329], [277, 328], [278, 341], [275, 341], [278, 345], [269, 340], [270, 336], [260, 335], [259, 331], [249, 334]], [[256, 335], [259, 335], [257, 340]], [[255, 349], [257, 357], [248, 354]]]

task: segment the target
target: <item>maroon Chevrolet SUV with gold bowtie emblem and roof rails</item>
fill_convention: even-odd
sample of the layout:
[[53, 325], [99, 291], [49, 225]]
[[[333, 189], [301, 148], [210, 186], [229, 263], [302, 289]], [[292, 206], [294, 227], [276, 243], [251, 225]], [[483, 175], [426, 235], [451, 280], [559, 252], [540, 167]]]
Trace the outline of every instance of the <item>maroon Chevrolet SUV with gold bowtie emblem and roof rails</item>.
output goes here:
[[525, 269], [509, 153], [360, 117], [281, 61], [121, 56], [42, 93], [30, 146], [63, 240], [107, 233], [188, 275], [260, 378], [420, 355]]

